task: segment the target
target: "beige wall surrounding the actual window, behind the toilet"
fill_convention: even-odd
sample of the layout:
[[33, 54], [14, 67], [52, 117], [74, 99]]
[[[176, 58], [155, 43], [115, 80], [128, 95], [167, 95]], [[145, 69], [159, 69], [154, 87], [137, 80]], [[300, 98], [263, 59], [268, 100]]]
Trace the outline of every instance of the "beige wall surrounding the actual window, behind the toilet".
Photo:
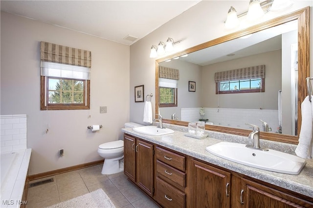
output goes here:
[[[91, 51], [90, 110], [40, 110], [40, 41]], [[129, 122], [129, 64], [127, 45], [1, 12], [1, 114], [27, 115], [30, 175], [101, 160], [98, 146], [122, 139], [120, 129]], [[108, 113], [100, 114], [99, 106]], [[88, 125], [104, 127], [91, 133]]]

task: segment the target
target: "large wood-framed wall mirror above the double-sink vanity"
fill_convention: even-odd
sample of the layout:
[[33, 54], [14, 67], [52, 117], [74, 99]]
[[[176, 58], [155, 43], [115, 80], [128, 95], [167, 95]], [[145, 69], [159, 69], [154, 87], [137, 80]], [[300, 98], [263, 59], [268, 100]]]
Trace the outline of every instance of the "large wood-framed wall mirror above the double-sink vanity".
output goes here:
[[[243, 136], [251, 132], [246, 123], [259, 125], [262, 139], [297, 144], [310, 74], [309, 11], [307, 7], [156, 60], [156, 114], [164, 123], [184, 126], [204, 119], [208, 130]], [[231, 93], [218, 90], [222, 85], [216, 73], [259, 66], [265, 75], [262, 84], [250, 81], [253, 92], [245, 91], [244, 81], [226, 84]], [[179, 71], [178, 80], [159, 78], [164, 69]], [[177, 103], [159, 105], [160, 87], [167, 86], [177, 88]]]

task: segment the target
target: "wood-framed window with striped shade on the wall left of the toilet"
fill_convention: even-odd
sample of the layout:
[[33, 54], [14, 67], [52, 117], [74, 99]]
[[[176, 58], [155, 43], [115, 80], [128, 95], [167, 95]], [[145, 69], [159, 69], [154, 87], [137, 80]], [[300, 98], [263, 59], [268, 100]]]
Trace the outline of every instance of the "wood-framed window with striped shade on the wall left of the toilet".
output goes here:
[[90, 64], [90, 51], [41, 42], [41, 110], [90, 109]]

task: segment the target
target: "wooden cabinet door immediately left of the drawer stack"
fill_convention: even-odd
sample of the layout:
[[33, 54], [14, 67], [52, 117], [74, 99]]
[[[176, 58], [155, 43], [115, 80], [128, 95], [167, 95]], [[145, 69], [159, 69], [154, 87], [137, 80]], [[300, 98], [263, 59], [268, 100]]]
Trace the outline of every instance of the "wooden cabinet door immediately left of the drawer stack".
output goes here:
[[136, 181], [149, 195], [153, 195], [153, 145], [136, 141]]

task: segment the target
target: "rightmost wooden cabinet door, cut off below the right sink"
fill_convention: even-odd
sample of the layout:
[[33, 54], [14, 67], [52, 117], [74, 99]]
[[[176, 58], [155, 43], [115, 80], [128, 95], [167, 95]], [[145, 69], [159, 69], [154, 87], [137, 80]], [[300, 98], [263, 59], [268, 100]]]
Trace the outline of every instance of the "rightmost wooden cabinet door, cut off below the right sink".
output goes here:
[[245, 208], [312, 208], [313, 202], [243, 179]]

